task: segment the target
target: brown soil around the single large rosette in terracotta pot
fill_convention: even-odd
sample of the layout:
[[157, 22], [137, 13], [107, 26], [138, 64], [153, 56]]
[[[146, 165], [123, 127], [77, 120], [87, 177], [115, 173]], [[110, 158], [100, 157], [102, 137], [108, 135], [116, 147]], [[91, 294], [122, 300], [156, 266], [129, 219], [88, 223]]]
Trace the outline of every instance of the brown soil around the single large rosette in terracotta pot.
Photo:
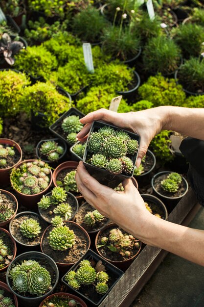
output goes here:
[[77, 262], [88, 250], [89, 239], [83, 230], [79, 229], [72, 223], [66, 223], [70, 230], [75, 233], [75, 244], [66, 251], [55, 251], [49, 246], [49, 232], [52, 230], [52, 226], [45, 232], [43, 238], [42, 249], [43, 252], [50, 256], [55, 262], [58, 263], [75, 263]]

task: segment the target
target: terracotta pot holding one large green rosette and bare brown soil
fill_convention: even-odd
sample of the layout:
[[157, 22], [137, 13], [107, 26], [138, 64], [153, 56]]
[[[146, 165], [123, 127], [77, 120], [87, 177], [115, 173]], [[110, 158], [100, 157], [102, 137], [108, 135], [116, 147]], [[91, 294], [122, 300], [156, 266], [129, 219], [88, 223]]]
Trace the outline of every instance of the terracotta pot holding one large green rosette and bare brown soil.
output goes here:
[[59, 267], [68, 267], [87, 252], [90, 244], [87, 231], [80, 225], [72, 221], [59, 221], [46, 228], [41, 239], [41, 250]]

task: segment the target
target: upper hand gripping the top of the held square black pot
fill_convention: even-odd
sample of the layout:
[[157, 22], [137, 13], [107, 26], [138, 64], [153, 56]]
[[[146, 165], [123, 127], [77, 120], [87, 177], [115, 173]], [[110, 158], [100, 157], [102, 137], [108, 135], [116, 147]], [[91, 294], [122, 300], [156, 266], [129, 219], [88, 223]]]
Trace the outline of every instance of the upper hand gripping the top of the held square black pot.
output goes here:
[[80, 120], [85, 125], [77, 134], [80, 142], [84, 142], [87, 139], [92, 122], [97, 120], [108, 122], [123, 129], [132, 130], [140, 135], [140, 147], [136, 161], [137, 168], [140, 165], [141, 159], [146, 154], [151, 140], [160, 132], [163, 126], [161, 107], [129, 113], [116, 113], [100, 109], [89, 113]]

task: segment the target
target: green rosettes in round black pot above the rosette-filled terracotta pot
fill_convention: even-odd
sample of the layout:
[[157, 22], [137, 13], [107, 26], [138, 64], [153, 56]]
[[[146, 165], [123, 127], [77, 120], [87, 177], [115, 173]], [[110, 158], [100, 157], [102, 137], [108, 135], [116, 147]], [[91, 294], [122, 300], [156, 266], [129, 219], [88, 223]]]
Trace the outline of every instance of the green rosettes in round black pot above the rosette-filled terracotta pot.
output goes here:
[[65, 152], [65, 149], [55, 141], [44, 142], [39, 150], [50, 162], [58, 161], [60, 156]]

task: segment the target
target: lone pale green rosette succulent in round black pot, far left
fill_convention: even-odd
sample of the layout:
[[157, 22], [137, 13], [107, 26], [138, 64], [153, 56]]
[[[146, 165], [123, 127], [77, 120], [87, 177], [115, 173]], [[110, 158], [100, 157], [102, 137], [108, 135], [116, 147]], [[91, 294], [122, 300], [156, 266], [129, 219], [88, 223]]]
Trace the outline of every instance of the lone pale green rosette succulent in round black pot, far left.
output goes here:
[[35, 219], [30, 218], [21, 223], [20, 230], [24, 237], [35, 238], [41, 232], [41, 227]]

